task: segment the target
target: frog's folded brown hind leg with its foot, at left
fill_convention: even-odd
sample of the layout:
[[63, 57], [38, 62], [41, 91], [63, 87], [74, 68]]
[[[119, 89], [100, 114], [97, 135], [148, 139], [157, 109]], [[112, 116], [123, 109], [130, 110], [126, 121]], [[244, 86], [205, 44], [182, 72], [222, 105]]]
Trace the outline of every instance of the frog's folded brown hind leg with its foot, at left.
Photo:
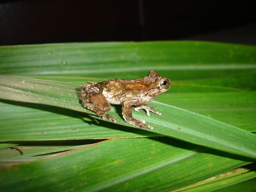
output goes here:
[[94, 111], [102, 119], [108, 118], [117, 123], [115, 117], [106, 113], [106, 111], [111, 109], [111, 105], [102, 93], [97, 89], [94, 89], [93, 87], [90, 88], [86, 85], [83, 85], [81, 88], [82, 103], [85, 108]]

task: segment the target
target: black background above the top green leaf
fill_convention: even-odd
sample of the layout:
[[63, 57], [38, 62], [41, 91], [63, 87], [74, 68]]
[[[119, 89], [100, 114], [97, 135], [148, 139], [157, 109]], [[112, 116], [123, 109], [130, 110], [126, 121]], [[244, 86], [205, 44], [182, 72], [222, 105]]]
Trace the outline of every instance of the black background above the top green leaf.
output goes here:
[[1, 1], [0, 45], [201, 40], [256, 45], [253, 1]]

